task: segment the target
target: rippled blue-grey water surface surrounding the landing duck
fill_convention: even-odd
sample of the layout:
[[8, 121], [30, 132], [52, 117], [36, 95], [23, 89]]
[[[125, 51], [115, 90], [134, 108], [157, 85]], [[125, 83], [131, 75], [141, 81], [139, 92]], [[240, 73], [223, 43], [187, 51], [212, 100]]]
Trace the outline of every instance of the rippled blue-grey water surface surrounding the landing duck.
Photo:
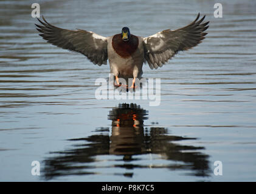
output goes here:
[[[256, 4], [223, 1], [39, 1], [58, 27], [149, 36], [210, 21], [206, 39], [161, 69], [161, 104], [97, 100], [109, 66], [48, 44], [33, 1], [0, 1], [1, 181], [255, 181]], [[41, 175], [31, 174], [40, 161]], [[215, 176], [215, 161], [223, 176]]]

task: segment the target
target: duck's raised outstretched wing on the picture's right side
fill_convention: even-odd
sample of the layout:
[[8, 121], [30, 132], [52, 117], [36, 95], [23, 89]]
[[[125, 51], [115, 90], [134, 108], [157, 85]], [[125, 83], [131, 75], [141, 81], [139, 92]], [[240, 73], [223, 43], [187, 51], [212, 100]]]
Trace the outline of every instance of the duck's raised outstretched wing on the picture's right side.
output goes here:
[[201, 24], [205, 16], [198, 21], [199, 16], [198, 13], [195, 21], [178, 30], [168, 29], [144, 38], [145, 59], [151, 69], [162, 67], [177, 52], [191, 49], [205, 38], [209, 22]]

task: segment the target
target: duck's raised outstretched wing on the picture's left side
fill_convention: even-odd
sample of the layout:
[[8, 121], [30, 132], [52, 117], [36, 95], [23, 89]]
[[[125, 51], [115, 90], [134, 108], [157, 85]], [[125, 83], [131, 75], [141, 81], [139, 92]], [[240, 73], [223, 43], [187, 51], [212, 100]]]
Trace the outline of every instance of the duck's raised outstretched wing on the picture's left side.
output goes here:
[[106, 38], [86, 30], [66, 30], [49, 24], [43, 17], [42, 25], [35, 24], [40, 36], [63, 49], [82, 53], [94, 64], [106, 64], [108, 60]]

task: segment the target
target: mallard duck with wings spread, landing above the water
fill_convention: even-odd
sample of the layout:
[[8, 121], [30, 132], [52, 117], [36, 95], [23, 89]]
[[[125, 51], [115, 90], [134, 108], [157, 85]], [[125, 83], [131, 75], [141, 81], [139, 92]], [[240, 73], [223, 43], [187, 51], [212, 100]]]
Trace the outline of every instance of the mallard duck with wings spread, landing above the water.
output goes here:
[[119, 78], [133, 78], [134, 87], [136, 78], [142, 76], [144, 63], [151, 69], [162, 67], [176, 53], [195, 47], [205, 38], [209, 22], [202, 24], [206, 16], [199, 16], [198, 13], [195, 21], [178, 30], [163, 30], [146, 38], [132, 35], [128, 27], [108, 37], [86, 30], [66, 30], [49, 24], [44, 17], [43, 21], [38, 19], [43, 25], [35, 25], [40, 36], [53, 45], [79, 52], [97, 65], [107, 64], [108, 60], [116, 84], [119, 85]]

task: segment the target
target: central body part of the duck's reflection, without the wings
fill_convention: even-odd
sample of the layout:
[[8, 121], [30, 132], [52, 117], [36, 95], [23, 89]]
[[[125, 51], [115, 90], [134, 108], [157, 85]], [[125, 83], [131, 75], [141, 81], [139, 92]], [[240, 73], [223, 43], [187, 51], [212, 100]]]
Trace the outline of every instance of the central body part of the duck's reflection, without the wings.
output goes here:
[[112, 120], [112, 135], [109, 153], [125, 155], [145, 153], [143, 122], [147, 112], [136, 104], [120, 104], [109, 112]]

